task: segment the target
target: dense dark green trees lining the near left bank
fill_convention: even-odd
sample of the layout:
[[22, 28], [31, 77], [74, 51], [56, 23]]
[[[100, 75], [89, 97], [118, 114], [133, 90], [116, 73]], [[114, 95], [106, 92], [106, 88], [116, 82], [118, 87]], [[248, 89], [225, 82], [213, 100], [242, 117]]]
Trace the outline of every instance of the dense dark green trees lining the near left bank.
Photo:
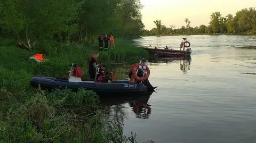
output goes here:
[[92, 43], [143, 34], [139, 0], [0, 0], [0, 37], [31, 49], [42, 39]]

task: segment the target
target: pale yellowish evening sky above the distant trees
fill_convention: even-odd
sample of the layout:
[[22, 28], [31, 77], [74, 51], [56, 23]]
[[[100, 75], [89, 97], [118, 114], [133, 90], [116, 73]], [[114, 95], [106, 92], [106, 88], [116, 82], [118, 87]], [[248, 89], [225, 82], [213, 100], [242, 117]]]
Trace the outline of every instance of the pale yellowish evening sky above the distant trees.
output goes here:
[[185, 18], [191, 21], [190, 26], [209, 25], [210, 15], [219, 11], [222, 16], [238, 10], [255, 7], [256, 0], [140, 0], [142, 22], [145, 29], [155, 28], [154, 20], [162, 20], [166, 27], [185, 26]]

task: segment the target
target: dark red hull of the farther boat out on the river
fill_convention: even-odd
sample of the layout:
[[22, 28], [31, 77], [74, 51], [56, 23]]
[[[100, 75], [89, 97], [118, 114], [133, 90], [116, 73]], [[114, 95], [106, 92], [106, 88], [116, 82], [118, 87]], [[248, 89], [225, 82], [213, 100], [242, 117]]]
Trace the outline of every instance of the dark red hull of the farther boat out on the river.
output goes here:
[[175, 49], [154, 49], [144, 48], [149, 54], [157, 54], [159, 56], [170, 56], [170, 57], [186, 57], [191, 55], [191, 49], [188, 48], [186, 51], [175, 50]]

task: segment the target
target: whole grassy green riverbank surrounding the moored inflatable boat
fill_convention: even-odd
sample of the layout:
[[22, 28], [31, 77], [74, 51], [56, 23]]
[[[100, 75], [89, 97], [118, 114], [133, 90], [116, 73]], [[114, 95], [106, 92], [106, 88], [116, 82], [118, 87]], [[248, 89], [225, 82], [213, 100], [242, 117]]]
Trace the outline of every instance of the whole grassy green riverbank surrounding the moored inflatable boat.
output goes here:
[[[116, 49], [100, 52], [99, 62], [138, 61], [142, 56], [148, 56], [146, 51], [131, 46], [131, 43], [130, 40], [116, 39]], [[82, 89], [77, 93], [69, 90], [45, 92], [29, 86], [34, 75], [67, 77], [71, 63], [86, 69], [93, 51], [98, 48], [42, 41], [29, 52], [12, 43], [2, 43], [0, 142], [111, 142], [124, 139], [121, 127], [106, 128], [104, 117], [108, 113], [100, 110], [98, 96], [93, 92]], [[45, 54], [49, 61], [29, 60], [38, 52]], [[84, 73], [88, 77], [87, 70]]]

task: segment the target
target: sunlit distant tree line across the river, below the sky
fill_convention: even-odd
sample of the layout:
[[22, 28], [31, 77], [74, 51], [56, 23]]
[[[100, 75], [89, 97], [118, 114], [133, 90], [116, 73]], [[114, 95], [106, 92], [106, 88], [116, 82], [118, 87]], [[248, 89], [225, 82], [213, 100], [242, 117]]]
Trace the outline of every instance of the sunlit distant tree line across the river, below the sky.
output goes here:
[[199, 27], [190, 27], [190, 21], [185, 19], [186, 26], [175, 29], [175, 26], [166, 27], [161, 20], [156, 20], [156, 28], [143, 30], [144, 36], [150, 35], [172, 35], [172, 34], [213, 34], [213, 33], [239, 33], [256, 34], [256, 10], [253, 7], [242, 9], [236, 15], [228, 14], [221, 16], [220, 12], [211, 14], [209, 26], [202, 24]]

